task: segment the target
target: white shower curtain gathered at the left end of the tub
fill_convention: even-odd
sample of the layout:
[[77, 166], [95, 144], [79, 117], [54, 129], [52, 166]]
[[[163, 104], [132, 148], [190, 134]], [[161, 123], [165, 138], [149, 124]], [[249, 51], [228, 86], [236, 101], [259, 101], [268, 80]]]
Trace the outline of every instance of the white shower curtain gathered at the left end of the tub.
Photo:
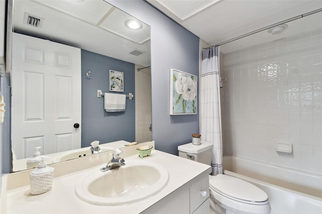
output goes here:
[[222, 139], [220, 116], [220, 71], [219, 48], [210, 47], [202, 51], [202, 74], [200, 96], [201, 140], [212, 142], [212, 175], [222, 174]]

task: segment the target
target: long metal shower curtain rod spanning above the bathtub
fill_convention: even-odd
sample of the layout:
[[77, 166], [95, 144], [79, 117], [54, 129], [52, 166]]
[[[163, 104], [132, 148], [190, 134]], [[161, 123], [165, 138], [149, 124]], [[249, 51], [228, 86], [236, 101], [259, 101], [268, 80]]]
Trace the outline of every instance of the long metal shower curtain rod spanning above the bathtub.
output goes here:
[[[216, 45], [212, 45], [212, 46], [210, 46], [210, 47], [208, 47], [208, 48], [211, 48], [211, 47], [218, 47], [218, 46], [220, 46], [220, 45], [224, 45], [224, 44], [227, 44], [227, 43], [229, 43], [229, 42], [233, 42], [233, 41], [236, 41], [236, 40], [238, 40], [238, 39], [241, 39], [241, 38], [244, 38], [244, 37], [247, 37], [247, 36], [251, 36], [251, 35], [256, 34], [256, 33], [259, 33], [259, 32], [261, 32], [261, 31], [265, 31], [265, 30], [268, 30], [268, 29], [270, 29], [270, 28], [273, 28], [273, 27], [276, 27], [276, 26], [279, 26], [279, 25], [282, 25], [282, 24], [285, 24], [285, 23], [288, 23], [288, 22], [291, 22], [291, 21], [294, 21], [294, 20], [297, 20], [297, 19], [301, 19], [301, 18], [303, 18], [303, 17], [307, 17], [307, 16], [309, 16], [309, 15], [312, 15], [312, 14], [315, 14], [315, 13], [318, 13], [318, 12], [322, 12], [322, 8], [317, 9], [317, 10], [315, 10], [315, 11], [311, 11], [311, 12], [306, 13], [306, 14], [303, 14], [303, 15], [299, 15], [299, 16], [293, 17], [293, 18], [291, 18], [291, 19], [284, 20], [284, 21], [282, 21], [282, 22], [278, 22], [278, 23], [276, 23], [276, 24], [273, 24], [273, 25], [267, 26], [267, 27], [265, 27], [265, 28], [258, 29], [258, 30], [256, 30], [256, 31], [252, 31], [252, 32], [250, 32], [250, 33], [247, 33], [247, 34], [244, 34], [244, 35], [241, 35], [241, 36], [235, 37], [235, 38], [233, 38], [233, 39], [229, 39], [229, 40], [227, 40], [227, 41], [225, 41], [225, 42], [221, 42], [221, 43], [218, 43], [218, 44], [216, 44]], [[203, 50], [204, 50], [204, 49], [207, 49], [207, 48], [203, 48]]]

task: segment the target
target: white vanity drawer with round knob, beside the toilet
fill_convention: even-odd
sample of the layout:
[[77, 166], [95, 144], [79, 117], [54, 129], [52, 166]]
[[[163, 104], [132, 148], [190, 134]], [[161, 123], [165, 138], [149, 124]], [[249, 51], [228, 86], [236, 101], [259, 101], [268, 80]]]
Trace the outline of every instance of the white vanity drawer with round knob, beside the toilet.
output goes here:
[[190, 186], [190, 212], [194, 212], [209, 197], [209, 176], [202, 173], [193, 179]]

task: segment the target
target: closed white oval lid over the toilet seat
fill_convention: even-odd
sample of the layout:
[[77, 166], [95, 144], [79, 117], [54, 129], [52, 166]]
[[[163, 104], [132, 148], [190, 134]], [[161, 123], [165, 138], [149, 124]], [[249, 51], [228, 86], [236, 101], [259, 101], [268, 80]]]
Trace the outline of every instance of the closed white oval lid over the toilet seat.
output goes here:
[[267, 194], [262, 189], [236, 177], [223, 174], [211, 176], [209, 185], [219, 194], [238, 201], [257, 203], [268, 200]]

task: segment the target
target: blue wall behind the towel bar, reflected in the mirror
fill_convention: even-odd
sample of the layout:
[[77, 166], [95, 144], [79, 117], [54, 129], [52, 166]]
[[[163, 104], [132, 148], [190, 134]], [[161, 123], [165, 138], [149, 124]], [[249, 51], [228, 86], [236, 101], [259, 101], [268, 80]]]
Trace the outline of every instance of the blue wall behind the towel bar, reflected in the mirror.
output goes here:
[[[109, 70], [124, 73], [124, 92], [109, 91]], [[85, 73], [91, 71], [92, 78]], [[82, 147], [98, 140], [100, 143], [125, 140], [135, 141], [135, 65], [133, 63], [82, 50]], [[97, 90], [102, 92], [128, 94], [125, 112], [105, 112], [104, 97], [98, 98]]]

